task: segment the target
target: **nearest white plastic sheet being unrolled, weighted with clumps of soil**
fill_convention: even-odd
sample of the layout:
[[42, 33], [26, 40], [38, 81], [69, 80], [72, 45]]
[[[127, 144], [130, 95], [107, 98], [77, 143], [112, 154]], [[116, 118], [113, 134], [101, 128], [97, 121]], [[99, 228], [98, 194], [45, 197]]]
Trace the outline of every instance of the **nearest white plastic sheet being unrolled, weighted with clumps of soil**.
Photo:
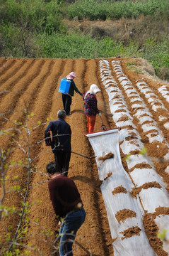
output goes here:
[[95, 152], [100, 186], [107, 210], [115, 256], [156, 255], [148, 242], [144, 210], [139, 197], [132, 197], [134, 188], [120, 158], [118, 129], [86, 135]]

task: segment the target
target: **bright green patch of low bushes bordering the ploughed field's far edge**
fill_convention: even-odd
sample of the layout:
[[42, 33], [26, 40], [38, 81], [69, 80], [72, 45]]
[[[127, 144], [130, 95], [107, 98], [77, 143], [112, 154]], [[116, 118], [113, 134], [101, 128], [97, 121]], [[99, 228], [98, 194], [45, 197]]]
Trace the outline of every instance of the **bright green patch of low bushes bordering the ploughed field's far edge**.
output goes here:
[[108, 58], [123, 50], [122, 43], [111, 38], [98, 41], [97, 38], [75, 33], [53, 33], [48, 38], [43, 34], [39, 43], [43, 49], [42, 58]]

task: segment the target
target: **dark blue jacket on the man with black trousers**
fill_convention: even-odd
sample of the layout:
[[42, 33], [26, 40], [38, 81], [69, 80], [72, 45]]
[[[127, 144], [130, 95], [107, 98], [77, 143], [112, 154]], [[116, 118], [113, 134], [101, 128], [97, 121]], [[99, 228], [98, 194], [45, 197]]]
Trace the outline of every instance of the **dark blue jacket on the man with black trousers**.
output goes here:
[[[47, 132], [52, 132], [52, 152], [66, 151], [71, 152], [71, 127], [64, 119], [58, 119], [49, 123], [47, 129], [45, 129], [45, 138]], [[60, 136], [59, 136], [60, 135]]]

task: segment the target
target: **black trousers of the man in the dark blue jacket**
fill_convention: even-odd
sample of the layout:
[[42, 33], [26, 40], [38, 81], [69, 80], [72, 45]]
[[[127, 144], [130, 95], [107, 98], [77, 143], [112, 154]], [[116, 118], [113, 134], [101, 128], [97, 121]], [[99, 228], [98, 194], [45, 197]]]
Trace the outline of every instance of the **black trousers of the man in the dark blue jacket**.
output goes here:
[[69, 161], [71, 159], [71, 152], [56, 151], [54, 152], [54, 159], [57, 163], [58, 170], [63, 176], [67, 176], [69, 171]]

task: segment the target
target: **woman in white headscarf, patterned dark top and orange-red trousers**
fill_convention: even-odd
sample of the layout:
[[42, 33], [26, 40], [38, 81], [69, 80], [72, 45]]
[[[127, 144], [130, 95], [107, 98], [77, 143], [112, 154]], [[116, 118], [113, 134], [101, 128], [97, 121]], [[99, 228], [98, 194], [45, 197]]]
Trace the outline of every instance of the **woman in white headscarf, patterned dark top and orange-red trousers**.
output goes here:
[[100, 92], [100, 89], [97, 85], [93, 84], [90, 87], [90, 90], [85, 93], [84, 100], [84, 112], [88, 119], [88, 133], [94, 131], [96, 114], [99, 114], [101, 117], [101, 113], [98, 110], [98, 100], [96, 94]]

